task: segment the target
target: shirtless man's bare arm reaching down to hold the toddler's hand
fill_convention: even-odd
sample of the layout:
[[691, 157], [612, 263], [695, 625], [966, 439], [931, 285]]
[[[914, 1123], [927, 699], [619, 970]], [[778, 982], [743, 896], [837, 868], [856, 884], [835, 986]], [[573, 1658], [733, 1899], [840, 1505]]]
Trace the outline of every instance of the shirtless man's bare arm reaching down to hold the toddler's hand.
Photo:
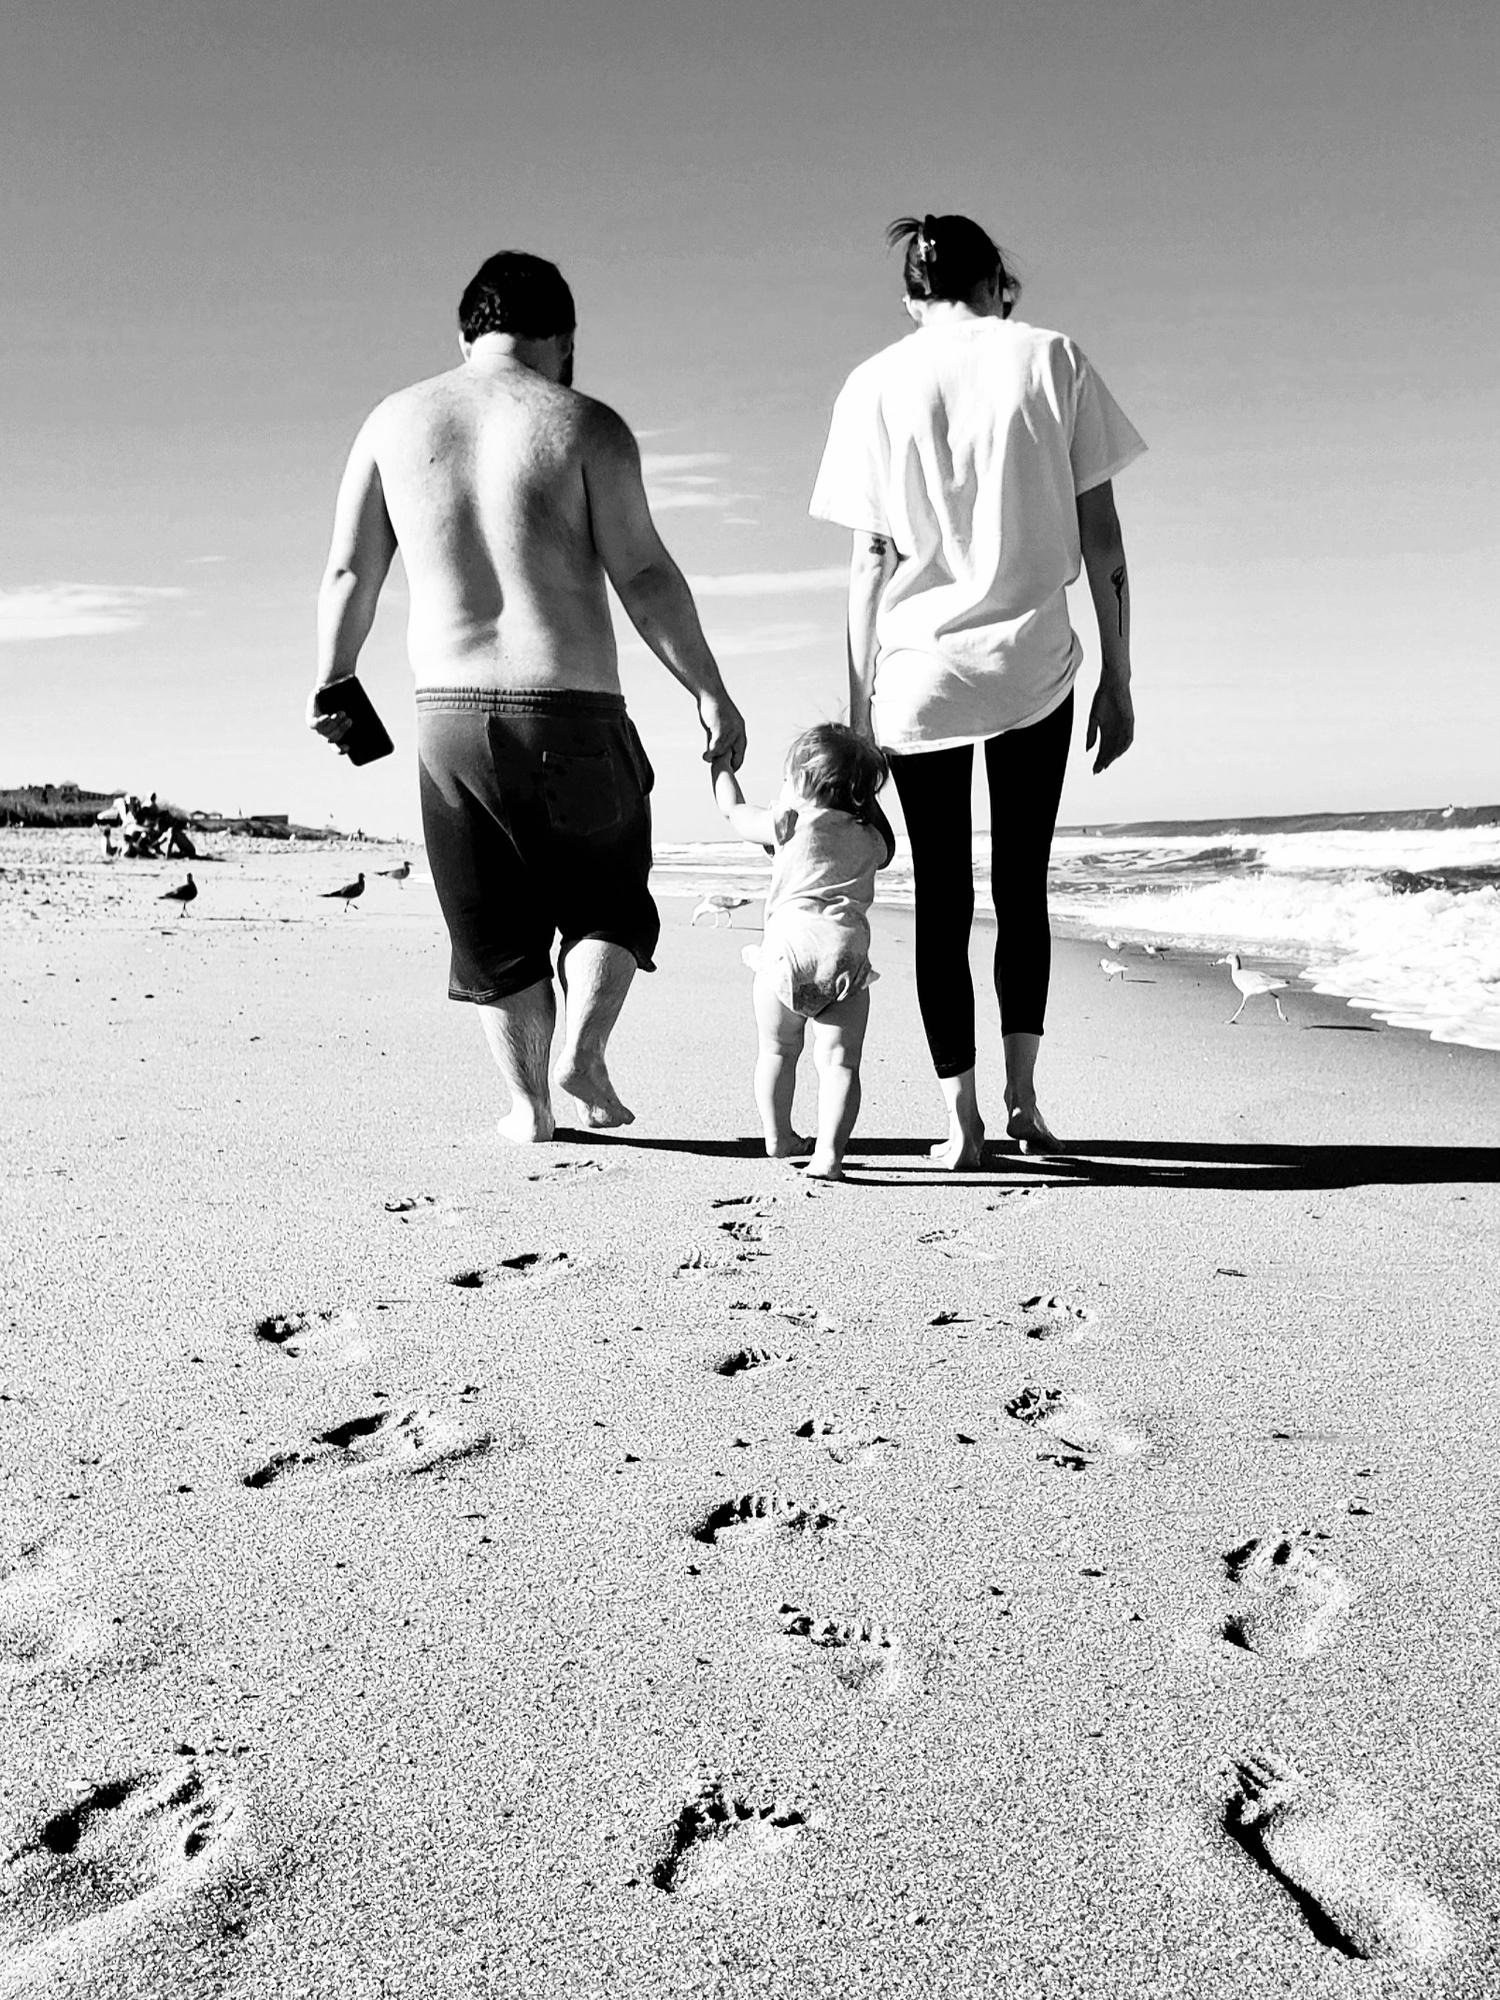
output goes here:
[[730, 770], [738, 770], [744, 762], [740, 710], [728, 698], [718, 662], [708, 650], [682, 570], [656, 532], [634, 434], [604, 404], [594, 404], [590, 414], [584, 486], [594, 548], [630, 624], [698, 702], [698, 718], [708, 736], [704, 762], [728, 758]]

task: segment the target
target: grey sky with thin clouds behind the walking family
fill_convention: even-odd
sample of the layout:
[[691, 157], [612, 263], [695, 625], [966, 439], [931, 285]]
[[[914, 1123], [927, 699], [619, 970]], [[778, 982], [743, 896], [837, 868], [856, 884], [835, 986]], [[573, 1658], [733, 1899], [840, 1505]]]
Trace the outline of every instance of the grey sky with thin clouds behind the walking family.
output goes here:
[[[1492, 0], [20, 0], [0, 26], [0, 784], [414, 836], [398, 574], [304, 730], [334, 488], [450, 366], [498, 248], [554, 258], [578, 386], [750, 724], [844, 702], [832, 398], [906, 332], [884, 224], [966, 212], [1150, 452], [1116, 484], [1138, 740], [1062, 818], [1500, 796]], [[1084, 692], [1098, 644], [1086, 592]], [[666, 840], [724, 832], [628, 632]], [[1082, 704], [1086, 706], [1086, 702]]]

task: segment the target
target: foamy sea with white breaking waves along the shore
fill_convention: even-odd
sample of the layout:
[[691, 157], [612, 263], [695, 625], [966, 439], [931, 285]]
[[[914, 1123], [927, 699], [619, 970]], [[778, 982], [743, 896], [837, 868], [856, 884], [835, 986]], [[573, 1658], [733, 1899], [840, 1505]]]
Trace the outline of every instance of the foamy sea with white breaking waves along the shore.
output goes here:
[[[1052, 914], [1084, 936], [1276, 958], [1380, 1020], [1500, 1048], [1500, 814], [1452, 826], [1438, 812], [1422, 818], [1064, 832], [1052, 850]], [[978, 904], [990, 908], [984, 834], [974, 860]], [[766, 858], [736, 842], [658, 848], [660, 894], [760, 896], [766, 880]], [[880, 876], [880, 902], [912, 902], [904, 844]]]

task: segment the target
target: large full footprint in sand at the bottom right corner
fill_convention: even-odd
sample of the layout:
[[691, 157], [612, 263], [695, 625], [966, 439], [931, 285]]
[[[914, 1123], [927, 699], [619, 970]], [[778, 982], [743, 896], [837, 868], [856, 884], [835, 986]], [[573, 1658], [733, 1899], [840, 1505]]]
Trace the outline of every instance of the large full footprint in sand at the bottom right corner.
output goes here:
[[1224, 1828], [1288, 1890], [1320, 1944], [1404, 1966], [1452, 1950], [1452, 1912], [1386, 1858], [1374, 1804], [1278, 1756], [1248, 1756], [1236, 1774]]

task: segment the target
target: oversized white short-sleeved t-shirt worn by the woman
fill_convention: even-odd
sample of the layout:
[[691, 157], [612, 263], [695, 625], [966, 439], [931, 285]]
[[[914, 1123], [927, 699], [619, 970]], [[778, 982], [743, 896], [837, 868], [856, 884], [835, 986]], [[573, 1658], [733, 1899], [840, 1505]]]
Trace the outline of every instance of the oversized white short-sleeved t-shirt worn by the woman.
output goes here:
[[876, 612], [882, 748], [978, 742], [1066, 700], [1076, 500], [1144, 450], [1082, 350], [1024, 320], [920, 326], [854, 370], [810, 512], [900, 552]]

